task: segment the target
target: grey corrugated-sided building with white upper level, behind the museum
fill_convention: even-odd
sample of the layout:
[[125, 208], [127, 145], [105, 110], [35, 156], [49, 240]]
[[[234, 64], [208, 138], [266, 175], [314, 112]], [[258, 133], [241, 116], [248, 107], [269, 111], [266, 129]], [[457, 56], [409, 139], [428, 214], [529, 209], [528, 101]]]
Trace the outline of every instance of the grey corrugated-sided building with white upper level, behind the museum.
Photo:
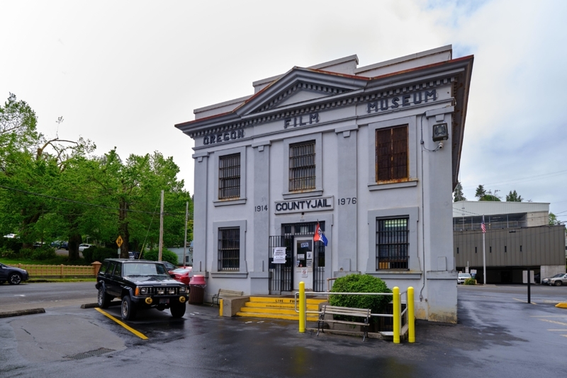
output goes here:
[[549, 203], [460, 201], [453, 205], [457, 270], [483, 277], [483, 232], [487, 283], [522, 283], [523, 271], [550, 277], [565, 272], [565, 227], [550, 226]]

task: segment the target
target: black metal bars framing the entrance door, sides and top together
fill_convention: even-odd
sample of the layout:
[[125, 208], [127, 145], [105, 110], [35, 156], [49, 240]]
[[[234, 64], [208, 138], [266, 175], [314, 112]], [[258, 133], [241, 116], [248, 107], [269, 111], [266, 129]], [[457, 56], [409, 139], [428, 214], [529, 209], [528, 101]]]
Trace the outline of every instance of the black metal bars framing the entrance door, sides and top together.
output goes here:
[[[269, 239], [269, 290], [270, 294], [293, 291], [293, 240], [295, 236], [313, 236], [317, 222], [282, 224], [282, 236]], [[325, 222], [319, 222], [325, 232]], [[274, 247], [286, 247], [286, 263], [274, 264]], [[325, 244], [313, 243], [313, 291], [325, 292]]]

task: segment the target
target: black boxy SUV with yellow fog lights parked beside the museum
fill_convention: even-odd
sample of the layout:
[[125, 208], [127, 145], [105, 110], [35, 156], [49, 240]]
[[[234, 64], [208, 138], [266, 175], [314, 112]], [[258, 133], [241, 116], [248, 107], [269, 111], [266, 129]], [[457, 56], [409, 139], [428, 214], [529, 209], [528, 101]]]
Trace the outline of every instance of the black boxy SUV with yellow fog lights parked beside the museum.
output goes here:
[[169, 309], [174, 318], [184, 316], [189, 286], [174, 280], [159, 261], [107, 258], [96, 277], [99, 307], [106, 309], [115, 298], [122, 300], [124, 320], [135, 319], [138, 309]]

